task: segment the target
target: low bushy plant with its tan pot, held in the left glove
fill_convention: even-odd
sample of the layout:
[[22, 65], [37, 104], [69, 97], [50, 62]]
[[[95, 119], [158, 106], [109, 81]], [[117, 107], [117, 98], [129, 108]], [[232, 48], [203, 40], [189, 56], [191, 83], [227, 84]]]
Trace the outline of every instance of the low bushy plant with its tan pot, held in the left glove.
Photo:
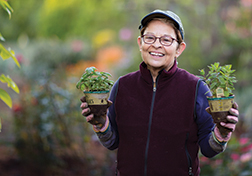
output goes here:
[[94, 125], [101, 124], [101, 117], [102, 120], [106, 120], [107, 108], [111, 105], [108, 97], [114, 81], [109, 80], [109, 77], [110, 73], [98, 72], [95, 67], [88, 67], [76, 84], [76, 88], [83, 91], [86, 102], [94, 114], [93, 120], [89, 121]]

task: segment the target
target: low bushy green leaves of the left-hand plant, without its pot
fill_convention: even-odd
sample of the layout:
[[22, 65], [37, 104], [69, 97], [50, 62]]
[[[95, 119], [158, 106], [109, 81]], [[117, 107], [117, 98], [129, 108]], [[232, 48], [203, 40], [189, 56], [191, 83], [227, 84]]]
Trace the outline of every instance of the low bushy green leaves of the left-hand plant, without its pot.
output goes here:
[[76, 88], [91, 92], [106, 91], [114, 84], [114, 81], [109, 80], [109, 77], [111, 77], [110, 73], [98, 72], [95, 67], [88, 67], [77, 82]]

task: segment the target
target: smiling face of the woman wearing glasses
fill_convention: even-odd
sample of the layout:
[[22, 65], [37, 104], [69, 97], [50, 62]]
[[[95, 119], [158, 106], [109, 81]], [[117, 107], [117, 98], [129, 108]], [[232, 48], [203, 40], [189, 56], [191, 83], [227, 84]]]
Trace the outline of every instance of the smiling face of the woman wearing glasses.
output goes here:
[[[170, 24], [156, 19], [148, 23], [143, 34], [151, 34], [156, 37], [170, 36], [177, 39], [175, 30]], [[186, 47], [184, 42], [178, 44], [177, 41], [173, 41], [170, 46], [163, 46], [159, 42], [159, 39], [153, 44], [146, 44], [141, 37], [138, 37], [138, 45], [142, 59], [152, 75], [156, 75], [162, 69], [168, 71], [173, 66], [174, 59], [177, 58]]]

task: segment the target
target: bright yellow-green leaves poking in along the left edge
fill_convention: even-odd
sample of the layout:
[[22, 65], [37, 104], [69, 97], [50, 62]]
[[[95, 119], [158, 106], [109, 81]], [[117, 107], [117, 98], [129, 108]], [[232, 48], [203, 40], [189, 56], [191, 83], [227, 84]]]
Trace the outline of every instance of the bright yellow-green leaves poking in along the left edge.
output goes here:
[[[5, 0], [0, 0], [0, 6], [9, 14], [9, 18], [11, 18], [11, 13], [13, 12], [13, 9]], [[0, 41], [4, 42], [5, 39], [3, 35], [0, 33]], [[1, 43], [0, 43], [0, 57], [3, 60], [7, 60], [9, 58], [12, 58], [16, 65], [20, 67], [18, 60], [15, 57], [15, 52], [11, 49], [6, 49]], [[19, 88], [16, 85], [16, 83], [7, 75], [1, 74], [0, 75], [0, 82], [7, 83], [7, 86], [12, 88], [16, 93], [19, 93]], [[0, 99], [8, 105], [10, 108], [12, 108], [12, 100], [10, 95], [4, 90], [0, 88]]]

